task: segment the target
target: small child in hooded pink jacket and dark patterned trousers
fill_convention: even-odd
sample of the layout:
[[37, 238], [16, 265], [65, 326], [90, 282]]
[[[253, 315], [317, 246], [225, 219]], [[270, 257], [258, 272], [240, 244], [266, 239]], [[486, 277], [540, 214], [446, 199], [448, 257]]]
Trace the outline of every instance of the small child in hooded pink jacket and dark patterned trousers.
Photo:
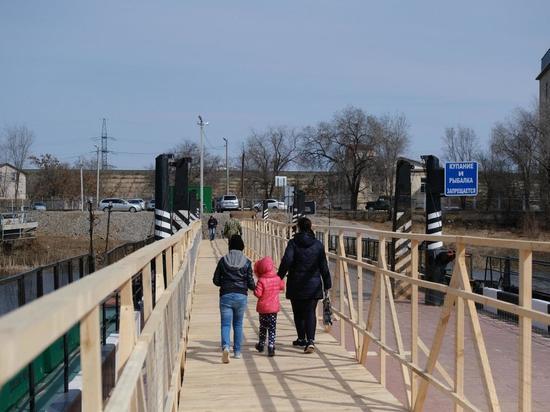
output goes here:
[[277, 312], [281, 309], [279, 293], [285, 288], [285, 282], [277, 275], [273, 260], [269, 256], [254, 264], [254, 273], [258, 277], [254, 290], [254, 295], [258, 298], [256, 311], [260, 314], [260, 337], [256, 349], [258, 352], [264, 351], [265, 338], [269, 332], [267, 354], [275, 356]]

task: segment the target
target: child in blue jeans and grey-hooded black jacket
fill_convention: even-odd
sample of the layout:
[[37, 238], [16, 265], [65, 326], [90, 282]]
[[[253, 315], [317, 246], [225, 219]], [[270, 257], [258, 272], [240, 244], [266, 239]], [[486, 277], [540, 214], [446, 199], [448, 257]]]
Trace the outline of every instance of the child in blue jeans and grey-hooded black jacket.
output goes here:
[[239, 235], [229, 239], [229, 253], [222, 257], [212, 281], [220, 288], [220, 317], [222, 362], [229, 363], [231, 323], [233, 323], [233, 354], [241, 357], [243, 317], [248, 300], [248, 290], [254, 290], [252, 263], [243, 254], [244, 242]]

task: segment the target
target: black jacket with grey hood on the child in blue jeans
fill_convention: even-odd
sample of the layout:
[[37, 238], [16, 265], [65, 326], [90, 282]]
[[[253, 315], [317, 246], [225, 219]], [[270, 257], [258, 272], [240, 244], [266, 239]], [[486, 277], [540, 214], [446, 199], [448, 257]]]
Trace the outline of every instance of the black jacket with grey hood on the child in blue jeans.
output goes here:
[[252, 277], [252, 263], [239, 250], [230, 250], [219, 260], [212, 281], [220, 287], [220, 296], [226, 293], [246, 295], [247, 289], [254, 290], [256, 287]]

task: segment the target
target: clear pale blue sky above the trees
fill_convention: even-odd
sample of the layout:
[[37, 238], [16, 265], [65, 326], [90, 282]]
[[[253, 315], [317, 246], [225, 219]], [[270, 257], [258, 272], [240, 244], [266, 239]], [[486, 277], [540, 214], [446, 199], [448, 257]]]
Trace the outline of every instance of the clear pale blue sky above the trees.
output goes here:
[[406, 155], [440, 154], [445, 127], [486, 144], [538, 95], [548, 0], [0, 0], [0, 128], [26, 124], [33, 153], [153, 165], [179, 142], [230, 156], [251, 130], [300, 128], [348, 105], [403, 113]]

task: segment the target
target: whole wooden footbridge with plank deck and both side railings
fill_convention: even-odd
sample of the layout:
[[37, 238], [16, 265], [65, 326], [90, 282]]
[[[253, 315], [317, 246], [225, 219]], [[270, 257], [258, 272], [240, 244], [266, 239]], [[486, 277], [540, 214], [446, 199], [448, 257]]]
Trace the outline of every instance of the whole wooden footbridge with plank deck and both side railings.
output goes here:
[[[251, 259], [269, 254], [280, 261], [288, 225], [259, 220], [242, 225]], [[221, 363], [212, 274], [226, 242], [202, 240], [195, 222], [0, 318], [0, 386], [36, 368], [37, 357], [77, 327], [79, 389], [65, 387], [57, 394], [56, 405], [69, 405], [65, 410], [550, 410], [550, 345], [532, 331], [534, 323], [548, 328], [550, 315], [534, 310], [531, 299], [533, 253], [550, 252], [550, 243], [357, 227], [315, 231], [334, 278], [335, 323], [331, 331], [319, 327], [314, 354], [292, 346], [295, 332], [285, 299], [276, 356], [257, 353], [258, 316], [250, 296], [242, 359]], [[356, 256], [345, 252], [350, 233]], [[336, 252], [329, 252], [329, 234], [336, 235]], [[367, 237], [378, 239], [376, 260], [362, 258], [361, 240]], [[406, 273], [388, 266], [385, 245], [399, 238], [410, 240]], [[418, 271], [419, 246], [430, 240], [456, 250], [449, 285], [423, 280]], [[517, 253], [518, 304], [472, 292], [465, 258], [472, 246]], [[397, 285], [407, 290], [404, 298], [394, 298]], [[443, 305], [424, 305], [426, 290], [443, 293]], [[113, 370], [105, 366], [100, 339], [105, 302], [116, 302], [119, 314]], [[516, 322], [487, 316], [487, 307]], [[54, 406], [45, 409], [62, 410]]]

